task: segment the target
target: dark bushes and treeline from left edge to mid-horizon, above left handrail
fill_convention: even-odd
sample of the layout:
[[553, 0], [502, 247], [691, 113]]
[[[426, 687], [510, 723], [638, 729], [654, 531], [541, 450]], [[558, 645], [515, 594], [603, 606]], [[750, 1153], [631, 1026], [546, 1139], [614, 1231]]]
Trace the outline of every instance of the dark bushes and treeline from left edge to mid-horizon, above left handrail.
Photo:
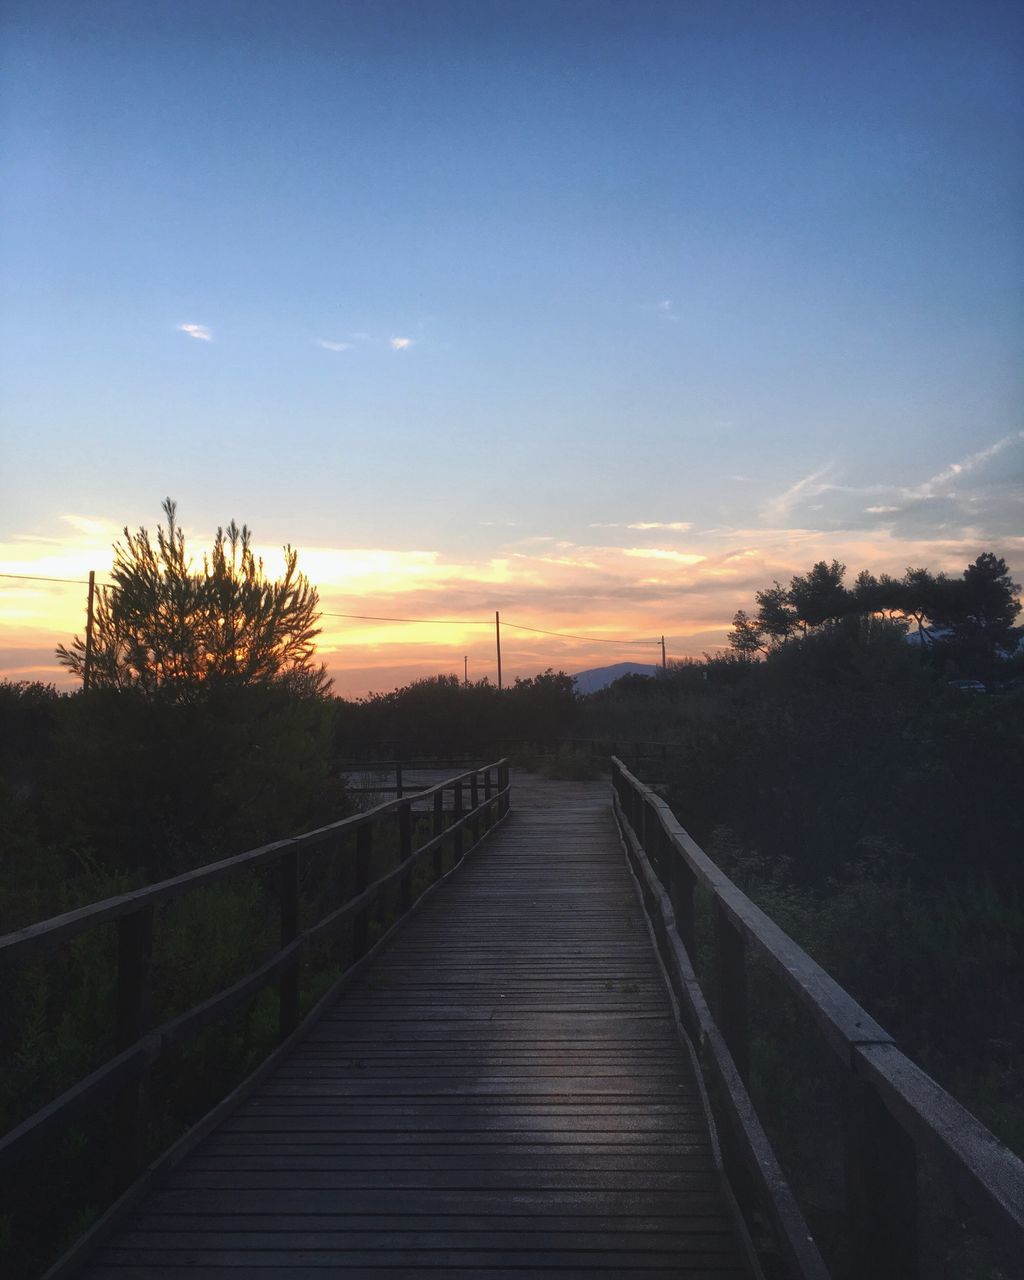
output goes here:
[[362, 701], [289, 681], [188, 698], [0, 682], [0, 931], [344, 817], [343, 765], [371, 749], [481, 755], [564, 737], [579, 713], [563, 672]]

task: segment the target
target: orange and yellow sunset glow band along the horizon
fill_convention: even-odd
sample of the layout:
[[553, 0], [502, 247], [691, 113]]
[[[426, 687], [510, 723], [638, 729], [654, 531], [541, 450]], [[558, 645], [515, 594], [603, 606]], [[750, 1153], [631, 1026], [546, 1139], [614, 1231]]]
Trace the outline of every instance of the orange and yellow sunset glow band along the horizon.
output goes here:
[[[632, 540], [646, 539], [649, 545], [616, 545], [608, 531], [600, 540], [580, 543], [531, 536], [479, 559], [420, 549], [300, 545], [300, 568], [320, 591], [319, 655], [335, 692], [358, 698], [424, 676], [462, 676], [463, 659], [471, 680], [495, 680], [495, 611], [509, 681], [548, 667], [576, 672], [623, 660], [655, 663], [662, 635], [669, 659], [721, 649], [732, 614], [749, 608], [756, 589], [774, 579], [787, 581], [814, 559], [836, 557], [851, 573], [870, 568], [900, 575], [916, 563], [957, 572], [979, 549], [969, 538], [908, 540], [799, 527], [701, 534], [650, 525], [630, 531]], [[188, 532], [201, 557], [211, 531]], [[105, 580], [119, 535], [110, 520], [65, 516], [50, 538], [0, 543], [0, 573], [24, 576], [0, 579], [0, 676], [70, 686], [54, 648], [82, 632], [81, 584], [91, 568], [99, 582]], [[673, 545], [664, 545], [669, 539]], [[1024, 556], [1024, 538], [1004, 539], [1002, 547]], [[268, 572], [278, 573], [280, 548], [256, 549]]]

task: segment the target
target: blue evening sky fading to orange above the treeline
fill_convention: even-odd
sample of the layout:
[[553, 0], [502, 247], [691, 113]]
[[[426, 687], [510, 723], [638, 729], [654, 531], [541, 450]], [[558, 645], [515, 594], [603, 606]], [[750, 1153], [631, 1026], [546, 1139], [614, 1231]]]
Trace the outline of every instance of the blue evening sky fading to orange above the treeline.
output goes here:
[[0, 84], [0, 677], [166, 495], [349, 696], [1024, 577], [1016, 4], [8, 0]]

